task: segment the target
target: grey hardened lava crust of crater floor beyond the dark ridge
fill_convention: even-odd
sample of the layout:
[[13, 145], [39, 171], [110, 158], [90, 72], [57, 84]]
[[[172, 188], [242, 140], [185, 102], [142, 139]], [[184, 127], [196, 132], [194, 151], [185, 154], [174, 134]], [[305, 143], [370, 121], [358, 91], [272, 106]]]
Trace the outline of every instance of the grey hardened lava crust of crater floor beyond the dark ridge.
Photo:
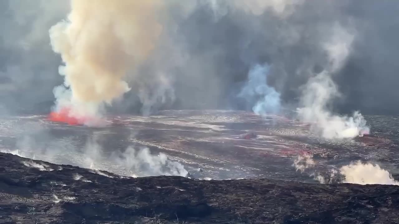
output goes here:
[[[0, 151], [136, 177], [162, 172], [130, 169], [136, 161], [126, 159], [132, 156], [129, 147], [135, 152], [147, 148], [153, 156], [163, 153], [197, 179], [273, 178], [316, 183], [312, 173], [328, 173], [356, 161], [379, 164], [398, 179], [399, 118], [365, 118], [370, 135], [325, 140], [310, 132], [309, 124], [243, 111], [114, 115], [104, 127], [61, 124], [47, 116], [14, 116], [0, 118]], [[123, 157], [123, 166], [115, 155]], [[293, 166], [301, 155], [314, 161], [302, 173]]]

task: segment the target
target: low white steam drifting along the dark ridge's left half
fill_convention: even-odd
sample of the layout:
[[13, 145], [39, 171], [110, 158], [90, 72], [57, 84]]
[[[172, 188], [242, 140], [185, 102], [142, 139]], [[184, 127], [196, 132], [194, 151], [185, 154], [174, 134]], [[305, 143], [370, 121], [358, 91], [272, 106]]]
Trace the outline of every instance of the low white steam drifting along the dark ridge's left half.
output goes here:
[[[42, 143], [43, 141], [45, 143]], [[187, 177], [188, 175], [188, 171], [181, 163], [172, 161], [164, 153], [152, 154], [148, 148], [134, 149], [134, 147], [130, 146], [124, 151], [109, 150], [113, 151], [113, 153], [107, 155], [107, 150], [100, 145], [97, 138], [89, 139], [83, 148], [73, 145], [72, 142], [73, 140], [69, 138], [58, 140], [24, 138], [18, 144], [18, 149], [0, 149], [0, 152], [49, 163], [94, 169], [94, 173], [99, 173], [97, 170], [105, 170], [118, 175], [132, 177], [157, 175]], [[31, 166], [41, 168], [38, 165], [31, 164]]]

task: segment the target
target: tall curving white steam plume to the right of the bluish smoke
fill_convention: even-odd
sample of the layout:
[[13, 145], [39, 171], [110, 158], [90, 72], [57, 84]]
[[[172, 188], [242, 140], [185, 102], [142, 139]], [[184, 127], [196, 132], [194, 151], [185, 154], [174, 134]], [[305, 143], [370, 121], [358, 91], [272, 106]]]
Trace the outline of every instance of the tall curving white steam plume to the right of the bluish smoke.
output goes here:
[[358, 111], [348, 117], [333, 114], [328, 109], [328, 104], [340, 96], [331, 75], [339, 71], [346, 62], [354, 38], [353, 32], [335, 24], [328, 41], [322, 43], [329, 65], [305, 84], [300, 100], [302, 107], [297, 109], [299, 118], [303, 122], [309, 122], [312, 131], [327, 139], [354, 138], [369, 133], [366, 121]]

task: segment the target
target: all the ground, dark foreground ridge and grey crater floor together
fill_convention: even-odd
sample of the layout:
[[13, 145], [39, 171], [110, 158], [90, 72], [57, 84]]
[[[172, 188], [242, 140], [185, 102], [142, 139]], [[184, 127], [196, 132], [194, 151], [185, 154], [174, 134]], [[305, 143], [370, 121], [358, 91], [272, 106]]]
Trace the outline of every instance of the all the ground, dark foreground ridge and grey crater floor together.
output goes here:
[[[283, 116], [239, 111], [107, 120], [2, 118], [1, 222], [399, 221], [396, 117], [366, 116], [371, 134], [339, 141]], [[339, 171], [356, 161], [379, 165], [392, 183], [350, 184]]]

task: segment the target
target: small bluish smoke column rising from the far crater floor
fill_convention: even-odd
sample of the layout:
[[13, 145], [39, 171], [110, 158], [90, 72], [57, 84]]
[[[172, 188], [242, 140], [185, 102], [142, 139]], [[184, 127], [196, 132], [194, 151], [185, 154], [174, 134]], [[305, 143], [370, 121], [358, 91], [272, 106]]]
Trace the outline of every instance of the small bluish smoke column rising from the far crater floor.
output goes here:
[[255, 101], [252, 110], [258, 115], [275, 114], [280, 110], [280, 94], [267, 85], [268, 73], [268, 65], [255, 65], [249, 71], [248, 81], [238, 95], [248, 102]]

